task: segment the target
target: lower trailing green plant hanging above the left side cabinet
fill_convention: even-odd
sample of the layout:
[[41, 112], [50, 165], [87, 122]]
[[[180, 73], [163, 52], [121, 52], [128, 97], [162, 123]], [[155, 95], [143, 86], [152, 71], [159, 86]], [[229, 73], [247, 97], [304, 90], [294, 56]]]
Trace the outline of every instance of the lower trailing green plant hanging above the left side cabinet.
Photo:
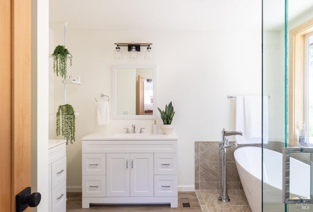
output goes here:
[[56, 134], [64, 136], [68, 141], [75, 141], [75, 113], [70, 104], [60, 105], [56, 115]]

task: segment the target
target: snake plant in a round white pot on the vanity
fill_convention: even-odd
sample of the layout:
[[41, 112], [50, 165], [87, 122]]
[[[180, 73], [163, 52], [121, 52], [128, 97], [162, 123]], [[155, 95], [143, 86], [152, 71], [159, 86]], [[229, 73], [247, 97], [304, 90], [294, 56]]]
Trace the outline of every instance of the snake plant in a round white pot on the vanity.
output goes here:
[[175, 115], [172, 101], [168, 105], [165, 105], [165, 110], [161, 110], [160, 108], [157, 108], [157, 110], [160, 112], [161, 119], [163, 121], [163, 124], [160, 126], [161, 131], [165, 135], [172, 134], [174, 131], [174, 126], [172, 125], [172, 121]]

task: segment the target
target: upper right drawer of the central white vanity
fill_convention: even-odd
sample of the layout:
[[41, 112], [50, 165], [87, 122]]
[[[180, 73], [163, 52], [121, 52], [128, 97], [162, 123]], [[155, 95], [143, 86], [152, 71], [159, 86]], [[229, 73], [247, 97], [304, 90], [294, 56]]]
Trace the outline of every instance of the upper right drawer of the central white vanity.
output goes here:
[[177, 174], [176, 153], [155, 153], [155, 174]]

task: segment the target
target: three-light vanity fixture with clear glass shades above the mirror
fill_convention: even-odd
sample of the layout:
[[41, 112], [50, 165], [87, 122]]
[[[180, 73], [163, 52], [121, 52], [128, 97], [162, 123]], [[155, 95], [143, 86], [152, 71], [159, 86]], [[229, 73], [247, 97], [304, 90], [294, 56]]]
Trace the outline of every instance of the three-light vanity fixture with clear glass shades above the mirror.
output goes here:
[[128, 51], [130, 52], [131, 59], [138, 59], [138, 51], [140, 51], [140, 47], [147, 47], [145, 52], [145, 59], [153, 59], [153, 54], [151, 50], [152, 43], [114, 43], [116, 45], [114, 58], [121, 59], [122, 50], [120, 47], [128, 47]]

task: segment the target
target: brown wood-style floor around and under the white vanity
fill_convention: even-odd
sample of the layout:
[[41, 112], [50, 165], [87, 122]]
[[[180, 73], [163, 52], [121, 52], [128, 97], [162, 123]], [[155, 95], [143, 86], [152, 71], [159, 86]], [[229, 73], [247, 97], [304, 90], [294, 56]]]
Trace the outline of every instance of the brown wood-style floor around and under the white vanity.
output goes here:
[[[178, 192], [178, 208], [170, 205], [91, 205], [82, 209], [82, 193], [67, 193], [67, 212], [201, 212], [195, 192]], [[188, 198], [190, 208], [182, 208], [180, 198]]]

